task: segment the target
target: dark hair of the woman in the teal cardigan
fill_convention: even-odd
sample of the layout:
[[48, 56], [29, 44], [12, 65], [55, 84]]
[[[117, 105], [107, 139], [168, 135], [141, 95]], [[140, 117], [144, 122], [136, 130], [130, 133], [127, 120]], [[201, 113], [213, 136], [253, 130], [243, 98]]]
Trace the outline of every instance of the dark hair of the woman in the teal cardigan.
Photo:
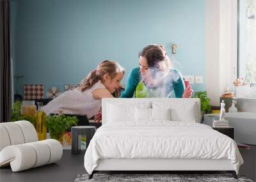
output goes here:
[[170, 70], [172, 67], [163, 45], [150, 44], [144, 47], [139, 54], [140, 56], [147, 59], [149, 67], [158, 67], [163, 72]]

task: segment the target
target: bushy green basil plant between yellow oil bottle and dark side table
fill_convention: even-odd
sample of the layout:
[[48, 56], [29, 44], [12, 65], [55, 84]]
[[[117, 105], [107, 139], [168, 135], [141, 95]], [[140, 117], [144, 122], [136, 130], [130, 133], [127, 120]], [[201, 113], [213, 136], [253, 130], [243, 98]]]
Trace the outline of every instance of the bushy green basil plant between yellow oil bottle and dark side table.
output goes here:
[[60, 140], [66, 130], [77, 125], [77, 121], [76, 116], [50, 115], [46, 118], [46, 128], [50, 132], [51, 139]]

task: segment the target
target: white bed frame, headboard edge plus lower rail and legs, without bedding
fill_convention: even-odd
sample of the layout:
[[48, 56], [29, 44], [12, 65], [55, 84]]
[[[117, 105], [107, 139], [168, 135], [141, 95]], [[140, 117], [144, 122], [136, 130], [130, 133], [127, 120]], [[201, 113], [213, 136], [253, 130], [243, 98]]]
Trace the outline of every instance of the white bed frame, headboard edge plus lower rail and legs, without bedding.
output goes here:
[[[104, 125], [107, 120], [108, 115], [107, 108], [108, 103], [116, 102], [116, 98], [108, 98], [102, 100], [102, 125]], [[120, 102], [132, 102], [134, 105], [137, 102], [152, 102], [154, 100], [163, 100], [168, 102], [176, 101], [177, 99], [166, 99], [166, 98], [119, 98]], [[180, 99], [179, 99], [180, 100]], [[197, 119], [196, 122], [200, 123], [200, 100], [196, 98], [186, 98], [184, 102], [195, 102], [197, 107]], [[93, 174], [102, 171], [118, 171], [118, 172], [141, 172], [147, 171], [147, 173], [163, 173], [170, 171], [226, 171], [232, 174], [232, 176], [237, 179], [236, 171], [231, 164], [230, 160], [211, 160], [211, 159], [159, 159], [159, 158], [143, 158], [143, 159], [124, 159], [124, 158], [109, 158], [104, 160], [99, 160], [97, 167], [94, 169], [92, 174], [90, 174], [89, 179], [92, 179]]]

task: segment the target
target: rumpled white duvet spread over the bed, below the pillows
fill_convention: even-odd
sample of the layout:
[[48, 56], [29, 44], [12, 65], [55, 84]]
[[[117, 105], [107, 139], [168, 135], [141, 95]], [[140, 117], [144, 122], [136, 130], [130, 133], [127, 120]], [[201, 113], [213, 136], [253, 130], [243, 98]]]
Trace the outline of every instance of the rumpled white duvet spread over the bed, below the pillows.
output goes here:
[[237, 173], [243, 163], [230, 137], [207, 125], [176, 121], [106, 123], [86, 150], [86, 171], [92, 174], [99, 159], [106, 158], [229, 159]]

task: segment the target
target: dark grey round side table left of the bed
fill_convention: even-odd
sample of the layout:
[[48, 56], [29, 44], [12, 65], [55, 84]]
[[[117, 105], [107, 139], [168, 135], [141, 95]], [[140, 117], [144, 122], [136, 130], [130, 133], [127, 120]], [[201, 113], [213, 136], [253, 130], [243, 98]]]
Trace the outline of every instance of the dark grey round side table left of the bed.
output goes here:
[[96, 132], [95, 126], [73, 126], [71, 128], [71, 153], [79, 154], [81, 153], [81, 137], [86, 136], [86, 149], [89, 146], [90, 140], [92, 139], [94, 133]]

